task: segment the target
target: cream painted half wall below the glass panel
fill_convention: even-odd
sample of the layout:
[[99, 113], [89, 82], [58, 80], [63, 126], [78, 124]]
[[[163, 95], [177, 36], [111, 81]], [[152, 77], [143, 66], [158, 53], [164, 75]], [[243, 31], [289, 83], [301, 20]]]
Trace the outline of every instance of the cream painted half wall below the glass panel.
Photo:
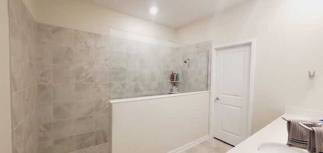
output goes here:
[[112, 104], [112, 152], [168, 152], [208, 135], [209, 93]]

